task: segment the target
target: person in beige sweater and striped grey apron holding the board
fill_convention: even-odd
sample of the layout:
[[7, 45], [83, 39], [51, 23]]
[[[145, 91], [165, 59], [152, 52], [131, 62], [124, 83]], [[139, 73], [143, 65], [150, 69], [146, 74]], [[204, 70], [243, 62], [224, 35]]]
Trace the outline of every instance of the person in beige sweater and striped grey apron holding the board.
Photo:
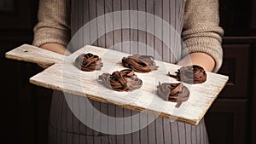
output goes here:
[[[104, 35], [97, 37], [96, 41], [91, 40], [91, 38], [81, 38], [79, 44], [73, 46], [73, 49], [66, 49], [71, 37], [79, 31], [79, 28], [90, 23], [96, 17], [120, 10], [146, 12], [149, 15], [153, 14], [166, 20], [175, 29], [177, 35], [181, 34], [186, 49], [183, 49], [179, 41], [173, 38], [171, 34], [168, 37], [170, 39], [168, 42], [178, 42], [174, 44], [175, 46], [172, 49], [174, 51], [178, 49], [177, 51], [182, 53], [181, 55], [178, 55], [178, 52], [172, 54], [170, 48], [161, 43], [160, 39], [166, 37], [163, 27], [161, 27], [162, 37], [160, 38], [150, 32], [122, 29], [106, 32]], [[111, 23], [111, 26], [125, 24], [123, 22], [125, 19], [115, 19], [116, 16], [113, 14], [113, 20], [103, 21], [105, 31], [109, 25], [108, 22]], [[104, 18], [106, 19], [106, 17], [105, 15]], [[130, 15], [129, 26], [134, 24], [132, 18]], [[121, 22], [118, 22], [118, 20]], [[147, 20], [146, 16], [145, 20], [141, 20], [137, 16], [135, 21], [137, 25], [143, 21], [143, 26], [145, 25], [147, 31], [152, 29], [154, 29], [154, 32], [158, 31], [155, 19]], [[101, 23], [96, 23], [97, 26], [98, 24]], [[73, 51], [86, 43], [90, 43], [131, 54], [153, 55], [154, 57], [159, 55], [157, 59], [160, 60], [182, 66], [195, 64], [202, 66], [206, 71], [218, 72], [222, 64], [221, 41], [224, 33], [218, 24], [218, 0], [71, 0], [71, 2], [69, 0], [41, 0], [38, 10], [38, 24], [34, 28], [33, 44], [42, 49], [69, 55], [68, 51]], [[91, 28], [91, 25], [89, 28]], [[84, 32], [83, 37], [85, 35], [86, 32]], [[91, 37], [93, 32], [90, 32], [89, 35]], [[119, 49], [117, 45], [125, 41], [145, 43], [153, 50], [147, 47], [142, 48], [138, 46], [139, 44], [134, 49], [131, 48], [131, 43], [128, 44], [129, 50], [123, 44]], [[168, 51], [168, 53], [165, 53], [165, 51]], [[173, 55], [176, 55], [175, 59], [173, 59]], [[137, 113], [111, 104], [96, 101], [91, 101], [91, 103], [99, 111], [113, 117], [127, 117]], [[139, 119], [138, 123], [141, 123], [142, 119]], [[49, 143], [208, 143], [208, 139], [204, 119], [197, 126], [192, 126], [176, 121], [170, 122], [165, 118], [156, 118], [153, 123], [148, 124], [142, 130], [124, 135], [108, 135], [91, 130], [73, 115], [73, 112], [67, 106], [64, 95], [55, 91], [49, 119]]]

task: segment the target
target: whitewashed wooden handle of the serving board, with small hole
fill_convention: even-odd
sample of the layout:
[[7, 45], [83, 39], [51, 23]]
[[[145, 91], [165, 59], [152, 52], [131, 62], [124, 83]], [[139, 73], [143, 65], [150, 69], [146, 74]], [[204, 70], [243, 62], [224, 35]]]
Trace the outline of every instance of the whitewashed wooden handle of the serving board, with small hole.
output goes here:
[[65, 55], [57, 54], [47, 49], [41, 49], [29, 44], [23, 44], [20, 47], [5, 53], [5, 57], [13, 60], [22, 60], [42, 65], [53, 65], [62, 62]]

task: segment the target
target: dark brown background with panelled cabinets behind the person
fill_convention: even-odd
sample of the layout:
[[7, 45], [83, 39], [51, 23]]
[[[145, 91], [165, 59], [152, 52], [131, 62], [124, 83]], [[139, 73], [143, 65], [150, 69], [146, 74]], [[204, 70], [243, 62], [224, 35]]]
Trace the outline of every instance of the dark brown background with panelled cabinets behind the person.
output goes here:
[[[230, 81], [206, 114], [211, 144], [256, 143], [256, 2], [219, 0], [224, 64]], [[38, 0], [0, 0], [1, 139], [4, 144], [47, 143], [51, 90], [28, 80], [43, 69], [4, 54], [32, 43]]]

